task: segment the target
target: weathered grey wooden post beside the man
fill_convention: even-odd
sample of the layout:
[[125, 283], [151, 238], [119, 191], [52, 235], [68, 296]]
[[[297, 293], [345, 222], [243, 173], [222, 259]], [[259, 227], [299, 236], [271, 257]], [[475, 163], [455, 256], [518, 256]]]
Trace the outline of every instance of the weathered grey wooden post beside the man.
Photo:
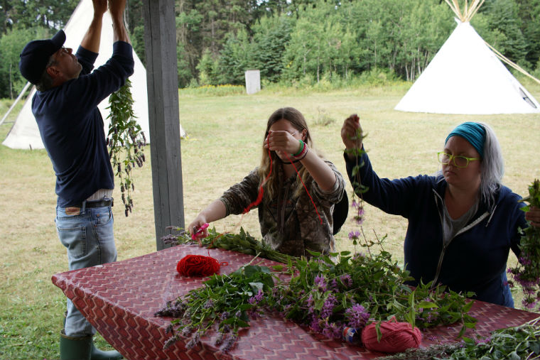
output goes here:
[[166, 227], [184, 227], [176, 25], [173, 0], [144, 0], [144, 43], [156, 246]]

